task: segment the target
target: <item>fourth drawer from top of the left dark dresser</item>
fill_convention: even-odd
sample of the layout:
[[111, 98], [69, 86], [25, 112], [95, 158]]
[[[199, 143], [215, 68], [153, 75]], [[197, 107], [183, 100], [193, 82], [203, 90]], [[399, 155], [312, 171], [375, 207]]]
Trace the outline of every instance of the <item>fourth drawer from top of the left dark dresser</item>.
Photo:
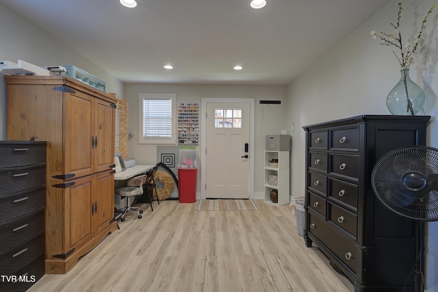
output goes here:
[[44, 232], [44, 210], [0, 226], [0, 254]]

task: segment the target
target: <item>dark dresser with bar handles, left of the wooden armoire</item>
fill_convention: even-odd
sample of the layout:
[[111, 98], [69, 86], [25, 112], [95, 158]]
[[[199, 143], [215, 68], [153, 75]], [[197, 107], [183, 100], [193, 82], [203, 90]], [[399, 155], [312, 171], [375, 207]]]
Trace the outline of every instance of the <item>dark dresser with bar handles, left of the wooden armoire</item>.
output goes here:
[[46, 142], [0, 141], [0, 291], [44, 275]]

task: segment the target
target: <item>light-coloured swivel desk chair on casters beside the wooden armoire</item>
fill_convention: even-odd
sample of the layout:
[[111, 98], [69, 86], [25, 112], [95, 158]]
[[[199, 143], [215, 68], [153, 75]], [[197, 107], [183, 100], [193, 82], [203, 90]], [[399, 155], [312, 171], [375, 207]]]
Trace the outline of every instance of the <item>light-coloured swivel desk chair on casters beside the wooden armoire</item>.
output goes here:
[[139, 175], [127, 180], [127, 186], [124, 186], [123, 188], [117, 188], [116, 191], [114, 191], [114, 194], [120, 197], [133, 197], [131, 205], [119, 210], [119, 212], [121, 212], [121, 216], [118, 216], [120, 221], [125, 221], [125, 215], [130, 210], [136, 211], [138, 219], [142, 219], [143, 210], [138, 207], [134, 207], [133, 205], [137, 202], [138, 196], [142, 195], [143, 193], [144, 182], [146, 182], [146, 175]]

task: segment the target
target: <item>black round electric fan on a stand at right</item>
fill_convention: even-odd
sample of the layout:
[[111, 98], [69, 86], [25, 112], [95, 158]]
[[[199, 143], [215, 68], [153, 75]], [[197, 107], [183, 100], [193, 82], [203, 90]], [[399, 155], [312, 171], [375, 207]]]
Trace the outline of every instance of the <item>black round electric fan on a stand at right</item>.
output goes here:
[[371, 182], [383, 205], [417, 222], [415, 291], [424, 291], [424, 223], [438, 221], [438, 149], [410, 146], [390, 151], [374, 166]]

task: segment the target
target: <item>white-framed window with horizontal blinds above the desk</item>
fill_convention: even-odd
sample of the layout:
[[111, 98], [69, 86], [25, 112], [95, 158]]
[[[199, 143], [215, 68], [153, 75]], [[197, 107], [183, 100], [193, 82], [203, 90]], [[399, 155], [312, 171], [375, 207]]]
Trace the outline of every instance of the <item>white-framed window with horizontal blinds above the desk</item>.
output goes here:
[[174, 94], [140, 94], [140, 143], [174, 143]]

